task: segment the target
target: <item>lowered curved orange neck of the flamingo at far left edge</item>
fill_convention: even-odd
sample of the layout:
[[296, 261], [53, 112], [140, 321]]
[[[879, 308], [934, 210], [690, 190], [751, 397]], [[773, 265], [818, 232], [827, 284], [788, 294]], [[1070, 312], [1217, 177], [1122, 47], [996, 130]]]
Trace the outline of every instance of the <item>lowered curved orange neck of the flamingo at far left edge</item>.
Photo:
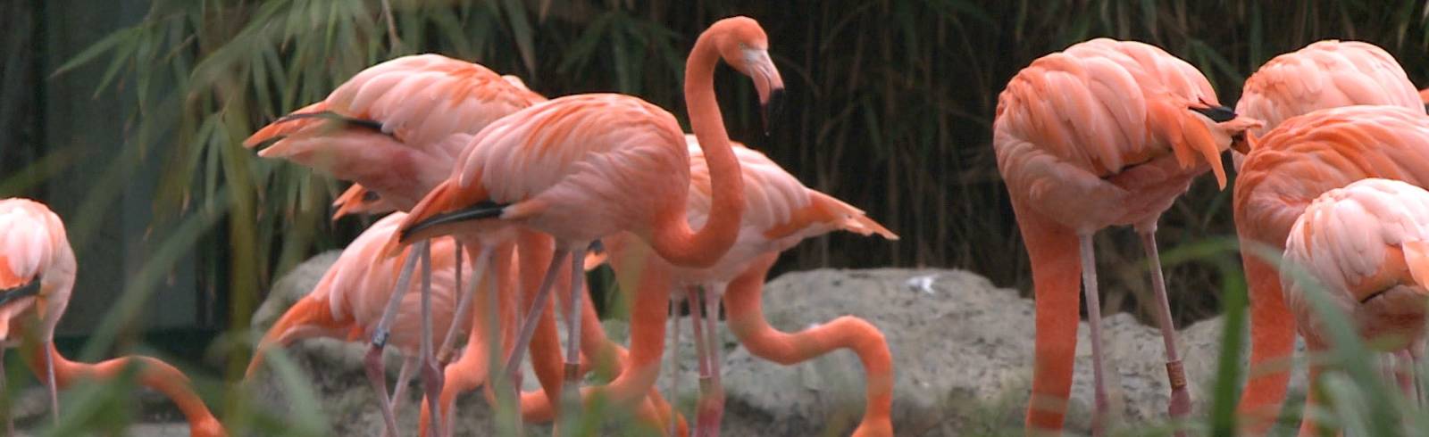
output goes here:
[[53, 341], [46, 343], [44, 347], [33, 347], [31, 350], [33, 353], [29, 354], [30, 367], [34, 368], [41, 380], [44, 378], [44, 357], [49, 356], [54, 363], [54, 384], [57, 388], [67, 387], [80, 378], [114, 378], [123, 374], [124, 368], [130, 364], [137, 364], [140, 366], [139, 383], [163, 393], [179, 406], [179, 411], [189, 421], [191, 436], [227, 436], [219, 420], [203, 404], [203, 398], [193, 393], [189, 377], [179, 371], [179, 368], [169, 366], [169, 363], [144, 356], [126, 356], [99, 364], [76, 363], [64, 358], [54, 348]]

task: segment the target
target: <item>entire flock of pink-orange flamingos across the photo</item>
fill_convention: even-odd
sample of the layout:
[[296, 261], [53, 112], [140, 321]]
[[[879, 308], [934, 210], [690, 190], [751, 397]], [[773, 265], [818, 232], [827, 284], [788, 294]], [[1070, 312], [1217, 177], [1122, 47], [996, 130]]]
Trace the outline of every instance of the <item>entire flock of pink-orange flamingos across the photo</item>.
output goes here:
[[[866, 406], [853, 434], [892, 436], [893, 360], [877, 327], [846, 316], [783, 333], [762, 314], [763, 281], [780, 251], [840, 230], [897, 238], [730, 141], [713, 87], [716, 66], [723, 60], [753, 81], [767, 124], [783, 90], [767, 50], [763, 29], [747, 17], [700, 34], [684, 70], [693, 134], [639, 97], [547, 100], [517, 77], [439, 54], [369, 67], [323, 101], [260, 129], [244, 141], [260, 157], [356, 183], [334, 203], [334, 220], [386, 216], [262, 337], [249, 377], [272, 347], [306, 337], [362, 340], [384, 436], [402, 431], [394, 410], [413, 377], [424, 391], [420, 436], [450, 436], [456, 396], [477, 387], [517, 426], [580, 414], [599, 401], [663, 434], [717, 436], [725, 396], [714, 338], [723, 303], [726, 326], [755, 356], [796, 364], [855, 351]], [[1296, 333], [1312, 351], [1333, 346], [1312, 308], [1312, 288], [1322, 288], [1360, 336], [1389, 338], [1375, 344], [1418, 367], [1429, 301], [1425, 107], [1392, 56], [1358, 41], [1319, 41], [1272, 59], [1246, 80], [1235, 109], [1222, 106], [1189, 63], [1145, 43], [1096, 39], [1019, 71], [999, 96], [993, 147], [1035, 283], [1027, 433], [1055, 434], [1063, 426], [1082, 291], [1092, 333], [1093, 433], [1107, 426], [1092, 236], [1110, 226], [1133, 226], [1142, 238], [1160, 304], [1167, 414], [1190, 414], [1156, 221], [1208, 170], [1226, 186], [1228, 149], [1242, 247], [1272, 247], [1295, 266], [1242, 254], [1252, 331], [1243, 431], [1263, 434], [1279, 413]], [[584, 271], [603, 263], [633, 288], [629, 346], [606, 337], [587, 296]], [[31, 200], [0, 201], [0, 340], [39, 343], [26, 348], [27, 361], [49, 387], [54, 420], [59, 387], [137, 364], [139, 381], [167, 394], [193, 436], [226, 436], [174, 367], [149, 357], [83, 364], [54, 350], [74, 274], [54, 213]], [[693, 430], [654, 387], [667, 321], [672, 344], [680, 340], [670, 313], [682, 300], [699, 360]], [[389, 343], [406, 357], [392, 396], [382, 360]], [[540, 383], [533, 391], [520, 390], [527, 353]], [[1312, 381], [1322, 367], [1310, 364]], [[609, 381], [584, 384], [587, 373]], [[1422, 401], [1418, 376], [1396, 381]], [[1312, 391], [1309, 403], [1318, 401]], [[1319, 427], [1306, 417], [1302, 434]]]

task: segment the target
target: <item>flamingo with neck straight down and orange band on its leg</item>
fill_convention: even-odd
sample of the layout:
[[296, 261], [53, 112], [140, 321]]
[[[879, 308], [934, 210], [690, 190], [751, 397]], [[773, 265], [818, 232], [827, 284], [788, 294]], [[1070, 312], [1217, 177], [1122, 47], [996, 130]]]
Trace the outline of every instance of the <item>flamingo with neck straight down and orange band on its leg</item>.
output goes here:
[[1093, 431], [1100, 433], [1106, 387], [1092, 234], [1109, 226], [1132, 224], [1140, 236], [1166, 341], [1169, 413], [1175, 418], [1190, 413], [1156, 251], [1156, 221], [1208, 166], [1225, 187], [1220, 153], [1256, 123], [1219, 106], [1195, 67], [1136, 41], [1077, 43], [1035, 60], [1007, 83], [997, 99], [993, 149], [1036, 286], [1029, 431], [1062, 428], [1080, 273], [1092, 324]]

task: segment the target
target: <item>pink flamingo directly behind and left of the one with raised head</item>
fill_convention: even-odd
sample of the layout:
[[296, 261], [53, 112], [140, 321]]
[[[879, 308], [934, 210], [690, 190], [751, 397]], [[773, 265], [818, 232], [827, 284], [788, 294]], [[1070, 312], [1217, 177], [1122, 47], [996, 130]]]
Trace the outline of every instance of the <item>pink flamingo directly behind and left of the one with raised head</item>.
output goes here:
[[[260, 157], [286, 159], [337, 179], [353, 180], [373, 190], [396, 210], [410, 210], [437, 183], [469, 134], [492, 121], [546, 99], [510, 76], [440, 54], [397, 57], [372, 66], [333, 90], [323, 101], [303, 107], [260, 129], [244, 140], [246, 147], [269, 144]], [[487, 236], [474, 241], [477, 273], [489, 267], [490, 253], [510, 236]], [[423, 246], [426, 246], [423, 243]], [[453, 246], [460, 257], [460, 248]], [[430, 250], [420, 247], [419, 253]], [[382, 350], [390, 333], [412, 270], [420, 257], [407, 257], [382, 321], [373, 331], [366, 356], [367, 377], [379, 398], [387, 396]], [[427, 273], [423, 268], [423, 276]], [[460, 288], [460, 287], [459, 287]], [[430, 293], [422, 288], [422, 296]], [[466, 297], [463, 297], [464, 300]], [[426, 301], [426, 300], [424, 300]], [[422, 304], [423, 313], [430, 306]], [[420, 373], [429, 401], [439, 398], [443, 377], [430, 336], [430, 317], [423, 316]], [[396, 417], [379, 406], [389, 434], [396, 434]], [[433, 427], [437, 424], [432, 424]]]

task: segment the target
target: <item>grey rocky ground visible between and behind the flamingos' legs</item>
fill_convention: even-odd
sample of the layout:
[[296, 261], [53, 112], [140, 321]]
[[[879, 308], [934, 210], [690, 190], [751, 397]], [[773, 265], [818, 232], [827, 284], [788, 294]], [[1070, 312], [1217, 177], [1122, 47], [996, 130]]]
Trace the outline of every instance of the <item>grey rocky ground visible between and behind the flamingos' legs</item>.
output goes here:
[[[254, 326], [272, 324], [283, 308], [312, 290], [334, 258], [333, 253], [319, 256], [274, 284]], [[1015, 290], [997, 288], [966, 271], [877, 268], [790, 273], [770, 281], [765, 293], [765, 311], [775, 327], [799, 330], [855, 314], [885, 333], [895, 357], [893, 410], [899, 436], [1020, 434], [1030, 381], [1033, 304]], [[1159, 421], [1169, 393], [1159, 333], [1129, 314], [1106, 317], [1103, 327], [1116, 411], [1126, 424]], [[682, 328], [687, 338], [689, 324]], [[622, 337], [624, 326], [610, 321], [607, 330]], [[1085, 433], [1092, 406], [1085, 323], [1077, 334], [1067, 427]], [[1219, 318], [1180, 331], [1198, 413], [1208, 406], [1219, 337]], [[726, 436], [839, 436], [859, 418], [863, 384], [853, 353], [836, 351], [786, 367], [752, 357], [727, 331], [722, 346]], [[263, 406], [279, 416], [292, 414], [287, 411], [293, 411], [296, 390], [313, 390], [333, 436], [369, 436], [380, 428], [376, 400], [362, 373], [363, 344], [304, 340], [287, 351], [312, 383], [293, 387], [283, 384], [274, 371], [262, 371], [253, 387]], [[694, 363], [687, 344], [682, 354], [683, 363]], [[394, 380], [400, 360], [389, 353], [387, 363]], [[682, 376], [677, 404], [690, 411], [696, 376], [690, 368], [682, 370]], [[532, 380], [527, 377], [527, 383]], [[660, 386], [669, 381], [666, 371]], [[410, 397], [399, 418], [403, 427], [414, 428], [417, 391], [417, 384], [407, 390]], [[480, 396], [462, 397], [459, 411], [457, 436], [490, 434], [489, 408]], [[542, 430], [546, 428], [533, 428]]]

